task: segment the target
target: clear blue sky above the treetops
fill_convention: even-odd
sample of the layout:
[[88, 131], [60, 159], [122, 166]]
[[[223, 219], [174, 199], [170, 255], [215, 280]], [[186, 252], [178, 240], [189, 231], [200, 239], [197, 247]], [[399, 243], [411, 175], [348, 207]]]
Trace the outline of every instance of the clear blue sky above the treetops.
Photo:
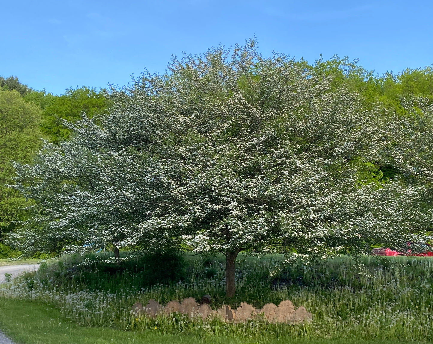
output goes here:
[[143, 68], [164, 72], [172, 54], [254, 35], [264, 55], [347, 55], [382, 74], [433, 63], [432, 13], [433, 0], [0, 0], [0, 75], [57, 94], [122, 86]]

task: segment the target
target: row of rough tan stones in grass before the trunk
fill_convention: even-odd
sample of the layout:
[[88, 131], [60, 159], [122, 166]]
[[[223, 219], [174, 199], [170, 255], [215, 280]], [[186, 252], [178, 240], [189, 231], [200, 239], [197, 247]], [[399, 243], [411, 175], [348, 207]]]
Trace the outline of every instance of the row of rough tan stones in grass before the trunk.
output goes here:
[[207, 303], [198, 304], [193, 297], [188, 297], [182, 302], [170, 301], [162, 306], [151, 299], [145, 307], [140, 302], [136, 302], [131, 309], [136, 315], [148, 315], [155, 317], [159, 314], [169, 315], [170, 313], [187, 314], [190, 318], [200, 317], [202, 319], [220, 318], [226, 322], [245, 322], [254, 318], [264, 318], [271, 324], [301, 324], [304, 321], [311, 321], [311, 313], [304, 307], [295, 309], [289, 300], [281, 301], [274, 305], [267, 303], [262, 309], [255, 309], [246, 302], [241, 302], [237, 309], [231, 309], [229, 305], [222, 305], [219, 309], [213, 310]]

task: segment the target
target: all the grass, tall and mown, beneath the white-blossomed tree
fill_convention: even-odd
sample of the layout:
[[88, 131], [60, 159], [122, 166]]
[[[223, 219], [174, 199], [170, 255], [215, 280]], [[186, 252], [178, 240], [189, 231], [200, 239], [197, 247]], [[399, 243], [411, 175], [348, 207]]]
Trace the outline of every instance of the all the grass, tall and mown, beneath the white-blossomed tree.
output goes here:
[[[341, 257], [281, 268], [277, 256], [241, 256], [233, 299], [224, 295], [222, 257], [136, 257], [120, 266], [100, 262], [99, 258], [69, 256], [42, 263], [37, 273], [26, 273], [3, 285], [0, 306], [5, 311], [0, 328], [23, 343], [104, 343], [108, 337], [101, 337], [102, 332], [112, 333], [113, 341], [108, 341], [112, 343], [129, 339], [135, 343], [433, 341], [431, 258], [365, 257], [355, 261]], [[259, 319], [228, 325], [216, 319], [191, 320], [182, 315], [150, 319], [129, 311], [136, 301], [145, 304], [153, 298], [165, 303], [190, 296], [200, 299], [204, 294], [212, 296], [214, 309], [223, 303], [237, 307], [246, 301], [262, 307], [290, 299], [296, 306], [304, 305], [313, 321], [270, 325]], [[7, 312], [11, 315], [6, 316]], [[52, 320], [42, 324], [42, 317], [35, 313]], [[63, 333], [65, 324], [77, 332]], [[23, 326], [30, 326], [32, 334], [23, 334]], [[45, 339], [42, 331], [47, 334]], [[64, 336], [61, 341], [60, 334]], [[36, 335], [42, 337], [29, 337]]]

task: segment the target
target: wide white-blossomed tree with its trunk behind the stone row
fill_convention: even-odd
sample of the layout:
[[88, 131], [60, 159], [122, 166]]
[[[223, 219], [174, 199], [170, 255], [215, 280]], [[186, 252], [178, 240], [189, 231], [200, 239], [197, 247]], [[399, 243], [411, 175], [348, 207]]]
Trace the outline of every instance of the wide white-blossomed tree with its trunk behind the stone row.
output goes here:
[[114, 92], [100, 125], [68, 124], [71, 141], [19, 169], [42, 214], [16, 233], [21, 248], [182, 243], [226, 256], [233, 296], [240, 251], [360, 254], [422, 233], [424, 190], [372, 172], [388, 143], [380, 111], [332, 74], [262, 58], [254, 41], [169, 70]]

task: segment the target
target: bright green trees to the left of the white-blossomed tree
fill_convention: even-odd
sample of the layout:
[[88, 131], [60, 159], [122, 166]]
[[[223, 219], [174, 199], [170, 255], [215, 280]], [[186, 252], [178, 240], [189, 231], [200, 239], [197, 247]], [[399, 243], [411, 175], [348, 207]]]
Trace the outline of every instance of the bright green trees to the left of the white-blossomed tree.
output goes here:
[[57, 96], [21, 84], [17, 77], [0, 76], [0, 258], [18, 254], [3, 244], [4, 235], [16, 221], [25, 219], [25, 199], [13, 185], [13, 161], [31, 163], [43, 140], [57, 144], [71, 132], [61, 122], [75, 122], [106, 114], [110, 100], [106, 90], [91, 87], [69, 88]]

